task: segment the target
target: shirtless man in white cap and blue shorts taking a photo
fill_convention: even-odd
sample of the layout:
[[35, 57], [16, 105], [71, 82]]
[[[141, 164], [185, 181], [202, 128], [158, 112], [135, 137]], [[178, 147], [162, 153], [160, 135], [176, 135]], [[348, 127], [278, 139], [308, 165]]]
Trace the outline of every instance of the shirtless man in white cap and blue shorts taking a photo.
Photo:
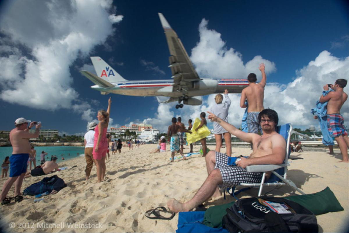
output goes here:
[[[39, 137], [41, 122], [33, 121], [28, 126], [30, 121], [24, 118], [18, 118], [15, 121], [13, 130], [10, 131], [10, 142], [13, 148], [12, 155], [10, 157], [10, 177], [4, 183], [1, 191], [0, 201], [1, 204], [10, 203], [10, 199], [6, 197], [8, 191], [15, 183], [15, 201], [20, 202], [23, 200], [21, 196], [21, 186], [25, 172], [27, 171], [27, 162], [31, 146], [29, 138]], [[36, 125], [35, 133], [29, 133], [29, 130]]]

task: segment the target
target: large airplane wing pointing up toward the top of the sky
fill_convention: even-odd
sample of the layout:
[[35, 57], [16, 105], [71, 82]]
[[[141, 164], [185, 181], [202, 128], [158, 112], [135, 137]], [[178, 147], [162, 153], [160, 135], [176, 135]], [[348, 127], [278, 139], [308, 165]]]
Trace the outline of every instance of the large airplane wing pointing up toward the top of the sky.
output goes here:
[[159, 18], [164, 28], [167, 44], [169, 46], [170, 54], [170, 68], [172, 78], [177, 85], [185, 85], [185, 82], [199, 81], [200, 77], [196, 73], [192, 62], [189, 59], [185, 48], [177, 36], [177, 33], [171, 28], [165, 17], [159, 14]]

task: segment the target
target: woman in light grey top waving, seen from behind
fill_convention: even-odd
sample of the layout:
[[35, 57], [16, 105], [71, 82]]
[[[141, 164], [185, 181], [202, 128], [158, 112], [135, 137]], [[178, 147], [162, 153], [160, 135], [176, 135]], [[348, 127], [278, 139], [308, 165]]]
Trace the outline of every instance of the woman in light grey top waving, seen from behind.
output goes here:
[[[217, 117], [224, 120], [225, 122], [228, 122], [228, 112], [231, 104], [231, 100], [229, 98], [228, 93], [229, 92], [227, 89], [225, 89], [223, 92], [225, 97], [224, 103], [222, 103], [223, 96], [221, 94], [217, 94], [215, 97], [216, 104], [211, 108], [211, 112], [215, 114]], [[221, 147], [223, 146], [223, 137], [224, 137], [225, 146], [227, 147], [227, 155], [230, 157], [231, 156], [231, 134], [217, 122], [213, 122], [213, 132], [215, 134], [215, 139], [216, 139], [216, 151], [221, 152]]]

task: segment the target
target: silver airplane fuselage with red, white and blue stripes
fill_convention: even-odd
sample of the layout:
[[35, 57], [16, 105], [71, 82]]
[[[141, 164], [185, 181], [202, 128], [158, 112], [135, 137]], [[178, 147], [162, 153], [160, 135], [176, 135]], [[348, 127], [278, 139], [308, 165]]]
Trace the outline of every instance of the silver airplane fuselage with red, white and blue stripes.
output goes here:
[[192, 87], [186, 90], [173, 90], [173, 79], [169, 80], [138, 80], [111, 83], [114, 87], [100, 87], [94, 85], [91, 88], [97, 91], [114, 93], [127, 96], [168, 96], [181, 97], [187, 95], [205, 96], [213, 93], [223, 93], [228, 89], [229, 93], [241, 93], [248, 86], [246, 79], [212, 79], [202, 78], [193, 82]]

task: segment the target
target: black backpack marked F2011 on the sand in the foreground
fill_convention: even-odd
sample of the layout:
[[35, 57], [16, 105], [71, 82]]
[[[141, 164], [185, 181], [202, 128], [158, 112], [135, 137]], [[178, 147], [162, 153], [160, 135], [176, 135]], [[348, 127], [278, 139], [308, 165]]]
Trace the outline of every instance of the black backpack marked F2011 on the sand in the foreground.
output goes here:
[[227, 209], [222, 225], [230, 233], [319, 231], [310, 210], [285, 198], [266, 196], [238, 200]]

